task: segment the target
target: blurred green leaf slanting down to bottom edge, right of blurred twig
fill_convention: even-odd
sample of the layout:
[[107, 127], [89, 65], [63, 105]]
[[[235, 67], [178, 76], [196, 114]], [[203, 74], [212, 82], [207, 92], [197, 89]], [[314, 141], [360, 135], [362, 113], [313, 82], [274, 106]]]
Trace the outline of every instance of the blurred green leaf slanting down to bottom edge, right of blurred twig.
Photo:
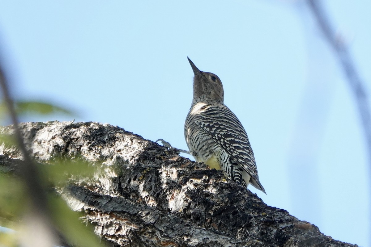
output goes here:
[[69, 243], [79, 247], [105, 246], [93, 233], [93, 228], [79, 220], [82, 214], [72, 211], [60, 197], [51, 196], [49, 201], [55, 224]]

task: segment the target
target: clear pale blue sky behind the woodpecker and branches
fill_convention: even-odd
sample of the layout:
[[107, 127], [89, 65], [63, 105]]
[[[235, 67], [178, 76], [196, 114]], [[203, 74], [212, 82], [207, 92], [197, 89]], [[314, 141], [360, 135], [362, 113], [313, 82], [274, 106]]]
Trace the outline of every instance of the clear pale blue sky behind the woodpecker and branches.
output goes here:
[[[370, 92], [370, 1], [323, 1]], [[303, 1], [0, 1], [13, 94], [186, 149], [193, 72], [217, 74], [263, 201], [371, 247], [370, 167], [354, 97]], [[71, 120], [28, 116], [22, 121]]]

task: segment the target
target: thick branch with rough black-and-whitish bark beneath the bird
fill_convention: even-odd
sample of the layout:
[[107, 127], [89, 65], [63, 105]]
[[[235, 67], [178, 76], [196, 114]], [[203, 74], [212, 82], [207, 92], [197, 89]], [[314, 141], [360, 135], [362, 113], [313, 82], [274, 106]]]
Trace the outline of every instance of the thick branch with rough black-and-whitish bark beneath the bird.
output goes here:
[[[39, 163], [83, 157], [99, 168], [94, 179], [71, 180], [59, 191], [114, 246], [354, 246], [122, 128], [57, 121], [20, 127]], [[16, 171], [20, 152], [2, 144], [0, 154], [0, 172]]]

